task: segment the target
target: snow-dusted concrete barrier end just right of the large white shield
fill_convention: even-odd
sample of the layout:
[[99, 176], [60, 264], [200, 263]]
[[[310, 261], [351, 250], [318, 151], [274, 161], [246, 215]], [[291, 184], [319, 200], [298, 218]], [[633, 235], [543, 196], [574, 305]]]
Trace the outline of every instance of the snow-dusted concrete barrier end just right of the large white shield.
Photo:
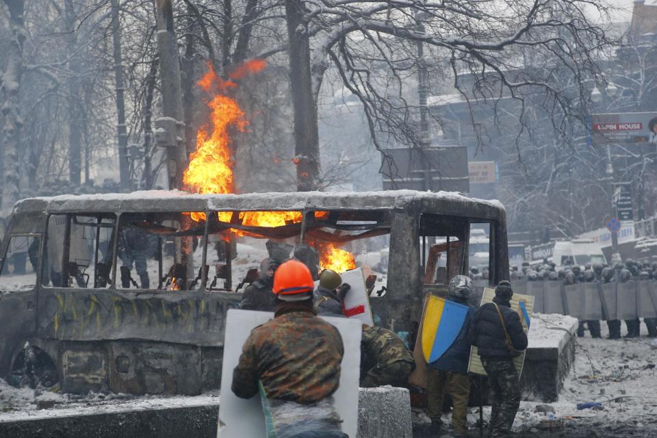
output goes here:
[[411, 438], [411, 396], [405, 388], [361, 388], [358, 438]]

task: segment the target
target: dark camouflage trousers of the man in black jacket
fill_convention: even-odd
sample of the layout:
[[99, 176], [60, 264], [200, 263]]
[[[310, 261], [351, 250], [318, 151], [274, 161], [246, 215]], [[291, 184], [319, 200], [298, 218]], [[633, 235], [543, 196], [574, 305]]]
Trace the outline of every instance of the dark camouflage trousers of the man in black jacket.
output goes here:
[[488, 374], [491, 401], [489, 437], [505, 437], [511, 432], [515, 414], [520, 407], [520, 383], [513, 362], [482, 361]]

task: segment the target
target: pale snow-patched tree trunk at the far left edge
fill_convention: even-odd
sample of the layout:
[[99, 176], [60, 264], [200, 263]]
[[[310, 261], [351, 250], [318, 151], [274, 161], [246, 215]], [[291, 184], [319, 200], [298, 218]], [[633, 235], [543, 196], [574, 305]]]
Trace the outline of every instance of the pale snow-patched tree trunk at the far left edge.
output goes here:
[[[8, 211], [18, 201], [18, 151], [21, 145], [21, 101], [18, 91], [23, 76], [23, 42], [25, 41], [25, 25], [23, 11], [25, 1], [3, 0], [9, 8], [10, 28], [12, 38], [3, 53], [6, 60], [5, 73], [2, 76], [0, 89], [3, 96], [4, 124], [2, 127], [3, 159], [3, 192], [2, 210]], [[1, 155], [1, 154], [0, 154]]]

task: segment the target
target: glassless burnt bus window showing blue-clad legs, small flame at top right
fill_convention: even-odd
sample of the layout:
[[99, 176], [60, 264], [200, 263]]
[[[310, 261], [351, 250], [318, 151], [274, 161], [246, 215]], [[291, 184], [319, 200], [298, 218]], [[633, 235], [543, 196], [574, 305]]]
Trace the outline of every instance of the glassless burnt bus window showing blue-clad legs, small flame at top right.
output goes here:
[[[188, 291], [201, 289], [203, 213], [121, 215], [118, 233], [118, 289]], [[205, 272], [204, 272], [205, 271]]]

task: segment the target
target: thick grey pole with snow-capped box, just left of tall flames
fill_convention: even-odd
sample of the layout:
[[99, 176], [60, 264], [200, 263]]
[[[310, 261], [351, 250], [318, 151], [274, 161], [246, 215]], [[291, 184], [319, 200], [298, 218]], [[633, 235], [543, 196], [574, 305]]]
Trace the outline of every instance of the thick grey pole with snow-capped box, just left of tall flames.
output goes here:
[[169, 190], [183, 188], [183, 172], [188, 165], [183, 122], [180, 62], [171, 0], [157, 0], [157, 51], [162, 89], [163, 117], [155, 120], [157, 144], [166, 148]]

